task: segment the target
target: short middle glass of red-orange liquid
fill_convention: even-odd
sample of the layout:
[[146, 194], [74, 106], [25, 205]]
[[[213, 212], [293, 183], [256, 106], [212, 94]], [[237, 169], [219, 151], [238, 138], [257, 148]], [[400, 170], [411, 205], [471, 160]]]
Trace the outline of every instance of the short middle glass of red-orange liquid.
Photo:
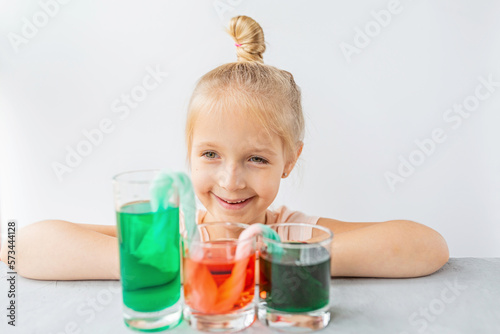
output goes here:
[[182, 238], [184, 319], [197, 330], [233, 332], [255, 321], [255, 237], [248, 225], [207, 223]]

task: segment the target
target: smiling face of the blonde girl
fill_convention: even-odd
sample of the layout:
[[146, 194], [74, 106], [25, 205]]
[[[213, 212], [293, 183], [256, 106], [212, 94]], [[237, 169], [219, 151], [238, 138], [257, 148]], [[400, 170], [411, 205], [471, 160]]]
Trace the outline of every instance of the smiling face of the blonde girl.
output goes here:
[[[191, 178], [205, 221], [265, 223], [281, 177], [289, 173], [281, 139], [258, 121], [229, 112], [200, 113], [194, 125]], [[292, 165], [293, 167], [293, 165]]]

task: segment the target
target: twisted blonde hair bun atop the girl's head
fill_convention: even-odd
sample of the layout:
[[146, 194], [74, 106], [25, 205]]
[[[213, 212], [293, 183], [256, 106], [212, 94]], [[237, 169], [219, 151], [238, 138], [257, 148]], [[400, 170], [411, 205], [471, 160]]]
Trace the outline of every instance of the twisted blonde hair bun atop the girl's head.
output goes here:
[[238, 61], [264, 62], [262, 54], [266, 51], [264, 31], [254, 19], [248, 16], [235, 16], [229, 22], [228, 33], [236, 44]]

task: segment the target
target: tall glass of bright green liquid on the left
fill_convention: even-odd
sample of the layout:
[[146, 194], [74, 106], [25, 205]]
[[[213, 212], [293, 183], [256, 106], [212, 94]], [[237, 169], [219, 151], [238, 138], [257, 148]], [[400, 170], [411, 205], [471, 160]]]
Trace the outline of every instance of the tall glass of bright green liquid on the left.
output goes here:
[[162, 203], [152, 198], [159, 173], [113, 178], [123, 316], [128, 327], [143, 332], [173, 328], [182, 320], [179, 195], [166, 185]]

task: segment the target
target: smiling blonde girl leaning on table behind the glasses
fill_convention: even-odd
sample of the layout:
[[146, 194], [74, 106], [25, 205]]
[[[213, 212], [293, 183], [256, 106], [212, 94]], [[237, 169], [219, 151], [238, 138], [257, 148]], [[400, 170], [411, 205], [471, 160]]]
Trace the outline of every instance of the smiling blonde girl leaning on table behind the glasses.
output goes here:
[[[348, 223], [268, 208], [303, 148], [304, 118], [293, 76], [263, 63], [264, 34], [251, 18], [231, 20], [238, 61], [215, 68], [192, 95], [186, 142], [198, 223], [300, 222], [334, 233], [332, 276], [414, 277], [448, 261], [436, 231], [407, 220]], [[314, 237], [314, 236], [313, 236]], [[4, 247], [1, 258], [6, 259]], [[47, 220], [19, 232], [19, 274], [35, 279], [118, 279], [115, 226]]]

